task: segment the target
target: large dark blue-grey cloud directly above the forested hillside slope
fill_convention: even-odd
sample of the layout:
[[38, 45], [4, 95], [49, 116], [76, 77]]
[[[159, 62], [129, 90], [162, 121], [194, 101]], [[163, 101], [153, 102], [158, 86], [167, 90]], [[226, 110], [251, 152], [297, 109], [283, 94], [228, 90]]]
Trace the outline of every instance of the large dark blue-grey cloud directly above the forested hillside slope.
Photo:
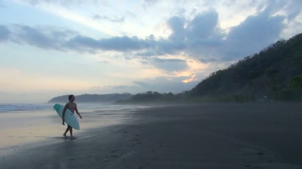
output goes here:
[[247, 17], [240, 25], [230, 29], [224, 46], [221, 47], [221, 51], [225, 53], [220, 54], [223, 60], [253, 54], [277, 41], [285, 26], [284, 19], [284, 16], [272, 17], [267, 11]]

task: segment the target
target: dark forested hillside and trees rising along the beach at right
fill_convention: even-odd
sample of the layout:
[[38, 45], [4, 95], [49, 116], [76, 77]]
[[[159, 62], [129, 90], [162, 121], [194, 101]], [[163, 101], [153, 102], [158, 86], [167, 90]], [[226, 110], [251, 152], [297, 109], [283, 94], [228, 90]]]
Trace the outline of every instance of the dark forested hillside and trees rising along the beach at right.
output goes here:
[[191, 90], [148, 91], [116, 103], [245, 102], [302, 100], [302, 34], [280, 40], [223, 70]]

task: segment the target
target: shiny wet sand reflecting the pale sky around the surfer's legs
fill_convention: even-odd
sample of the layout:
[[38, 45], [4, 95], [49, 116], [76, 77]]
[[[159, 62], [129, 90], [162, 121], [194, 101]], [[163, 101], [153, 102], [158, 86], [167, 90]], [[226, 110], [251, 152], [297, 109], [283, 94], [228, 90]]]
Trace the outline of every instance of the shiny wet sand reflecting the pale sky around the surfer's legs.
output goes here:
[[[85, 135], [95, 128], [123, 124], [128, 112], [137, 108], [114, 107], [81, 109], [84, 119], [80, 122], [80, 130], [74, 129], [74, 135]], [[54, 110], [9, 111], [0, 113], [0, 151], [11, 154], [24, 146], [39, 145], [40, 142], [61, 142], [67, 125]], [[82, 134], [84, 133], [84, 134]], [[70, 136], [70, 132], [67, 133]]]

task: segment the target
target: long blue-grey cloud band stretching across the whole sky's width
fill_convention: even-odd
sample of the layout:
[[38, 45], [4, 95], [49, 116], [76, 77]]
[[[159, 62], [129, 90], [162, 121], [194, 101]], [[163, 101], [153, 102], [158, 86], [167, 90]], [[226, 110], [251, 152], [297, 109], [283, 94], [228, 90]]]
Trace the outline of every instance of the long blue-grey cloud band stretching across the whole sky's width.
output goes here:
[[[154, 2], [156, 1], [145, 1], [145, 3]], [[186, 69], [186, 64], [153, 57], [185, 53], [186, 56], [202, 62], [225, 62], [251, 55], [279, 40], [282, 31], [286, 28], [285, 21], [293, 18], [292, 15], [301, 13], [301, 9], [298, 8], [295, 12], [289, 12], [288, 16], [278, 15], [278, 11], [300, 3], [299, 1], [271, 2], [264, 10], [259, 8], [259, 12], [248, 16], [239, 25], [227, 31], [219, 25], [218, 12], [211, 9], [197, 13], [192, 19], [180, 16], [168, 18], [166, 24], [171, 34], [167, 38], [155, 38], [150, 35], [146, 38], [121, 36], [97, 40], [68, 30], [53, 31], [23, 25], [16, 25], [17, 29], [1, 26], [0, 38], [3, 41], [13, 37], [16, 42], [44, 49], [95, 53], [100, 50], [130, 52], [132, 55], [127, 55], [128, 59], [143, 57], [150, 59], [151, 64], [159, 69], [177, 71]], [[99, 15], [98, 18], [112, 19]], [[51, 36], [54, 34], [61, 35]], [[171, 63], [174, 66], [169, 67]]]

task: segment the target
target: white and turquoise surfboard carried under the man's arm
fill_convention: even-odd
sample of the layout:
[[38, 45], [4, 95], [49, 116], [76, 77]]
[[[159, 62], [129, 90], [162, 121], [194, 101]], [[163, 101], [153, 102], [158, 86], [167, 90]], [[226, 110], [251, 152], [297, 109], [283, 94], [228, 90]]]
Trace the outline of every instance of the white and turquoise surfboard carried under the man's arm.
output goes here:
[[[61, 117], [63, 116], [63, 109], [64, 109], [64, 105], [61, 104], [55, 104], [54, 106], [54, 110], [56, 110], [56, 112], [58, 113], [58, 115]], [[64, 116], [65, 122], [75, 128], [79, 130], [79, 124], [77, 119], [75, 118], [75, 115], [73, 114], [73, 112], [71, 112], [69, 109], [66, 110], [65, 112], [65, 116]]]

